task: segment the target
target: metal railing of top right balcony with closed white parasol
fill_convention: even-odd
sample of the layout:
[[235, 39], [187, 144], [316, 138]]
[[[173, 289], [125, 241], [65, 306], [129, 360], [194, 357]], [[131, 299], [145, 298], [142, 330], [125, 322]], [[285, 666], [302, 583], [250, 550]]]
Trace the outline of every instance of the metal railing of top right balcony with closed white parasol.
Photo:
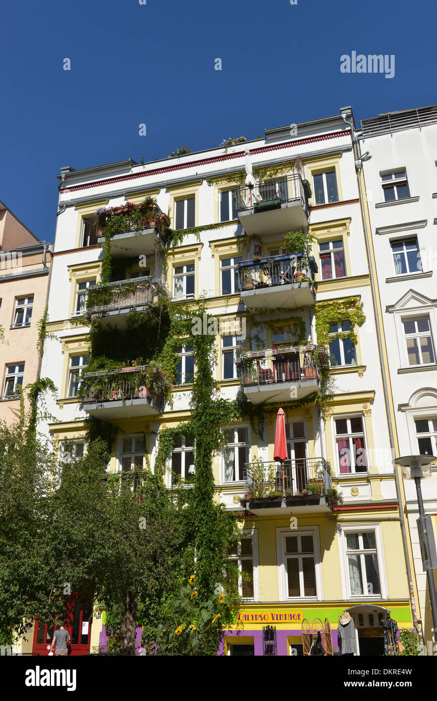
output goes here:
[[243, 210], [262, 211], [272, 207], [280, 207], [282, 203], [291, 203], [300, 200], [303, 208], [308, 212], [307, 194], [302, 177], [295, 173], [284, 175], [275, 179], [261, 180], [254, 186], [238, 185], [235, 189], [235, 204], [237, 212]]

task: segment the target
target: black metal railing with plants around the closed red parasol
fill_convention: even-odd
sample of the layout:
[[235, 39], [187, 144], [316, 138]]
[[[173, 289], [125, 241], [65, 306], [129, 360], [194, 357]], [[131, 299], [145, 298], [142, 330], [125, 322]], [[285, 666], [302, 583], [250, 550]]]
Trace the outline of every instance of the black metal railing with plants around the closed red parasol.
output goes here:
[[324, 495], [332, 489], [331, 470], [324, 458], [296, 458], [244, 465], [243, 479], [250, 499], [268, 498], [272, 492], [286, 496]]

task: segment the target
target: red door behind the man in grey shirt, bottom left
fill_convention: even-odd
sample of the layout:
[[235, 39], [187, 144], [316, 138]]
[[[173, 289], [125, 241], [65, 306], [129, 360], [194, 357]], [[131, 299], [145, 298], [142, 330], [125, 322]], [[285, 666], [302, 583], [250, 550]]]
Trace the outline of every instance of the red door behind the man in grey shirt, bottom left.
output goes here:
[[[91, 638], [90, 601], [82, 599], [78, 595], [69, 597], [66, 622], [65, 628], [68, 630], [71, 638], [71, 655], [88, 655]], [[36, 621], [32, 652], [48, 655], [55, 630], [56, 626], [53, 626], [53, 624], [40, 625]], [[54, 652], [56, 654], [56, 647]]]

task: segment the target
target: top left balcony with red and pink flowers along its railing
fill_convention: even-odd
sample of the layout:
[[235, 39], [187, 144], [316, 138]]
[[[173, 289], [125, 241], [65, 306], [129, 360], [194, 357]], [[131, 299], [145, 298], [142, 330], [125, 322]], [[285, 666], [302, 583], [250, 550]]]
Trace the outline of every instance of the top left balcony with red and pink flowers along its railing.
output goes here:
[[[131, 205], [132, 207], [132, 205]], [[127, 207], [118, 207], [114, 215], [127, 213]], [[119, 258], [126, 258], [140, 255], [150, 255], [155, 251], [155, 245], [165, 249], [167, 238], [165, 236], [165, 226], [169, 226], [169, 219], [158, 205], [144, 207], [138, 229], [132, 229], [129, 217], [126, 223], [120, 224], [120, 230], [111, 236], [111, 252]], [[97, 243], [104, 245], [104, 235], [102, 231], [97, 232]]]

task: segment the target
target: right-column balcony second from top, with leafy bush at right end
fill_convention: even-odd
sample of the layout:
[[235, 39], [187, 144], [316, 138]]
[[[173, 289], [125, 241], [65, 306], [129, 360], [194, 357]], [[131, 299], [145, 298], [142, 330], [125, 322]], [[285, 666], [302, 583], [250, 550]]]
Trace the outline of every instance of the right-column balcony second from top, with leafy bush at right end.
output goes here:
[[309, 268], [301, 253], [243, 261], [238, 266], [240, 297], [248, 309], [296, 309], [316, 301], [313, 278], [318, 272], [310, 257]]

